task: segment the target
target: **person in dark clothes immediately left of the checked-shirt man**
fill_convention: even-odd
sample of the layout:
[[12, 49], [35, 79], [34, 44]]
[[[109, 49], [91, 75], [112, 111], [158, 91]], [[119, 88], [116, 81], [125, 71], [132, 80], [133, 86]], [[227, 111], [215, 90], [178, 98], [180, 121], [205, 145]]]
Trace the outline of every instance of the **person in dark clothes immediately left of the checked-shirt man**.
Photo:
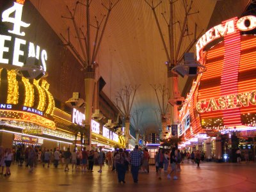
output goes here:
[[118, 150], [115, 156], [118, 183], [125, 183], [125, 154], [122, 148]]

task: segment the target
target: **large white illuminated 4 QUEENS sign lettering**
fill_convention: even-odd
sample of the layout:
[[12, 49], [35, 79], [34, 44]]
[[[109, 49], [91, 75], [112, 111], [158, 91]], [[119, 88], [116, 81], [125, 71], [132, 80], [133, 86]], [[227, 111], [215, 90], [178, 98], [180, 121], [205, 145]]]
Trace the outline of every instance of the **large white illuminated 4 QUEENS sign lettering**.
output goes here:
[[[15, 3], [12, 7], [8, 8], [2, 13], [2, 22], [10, 22], [13, 24], [13, 29], [8, 30], [8, 33], [18, 36], [25, 36], [26, 33], [22, 31], [22, 28], [28, 28], [30, 24], [22, 21], [22, 8], [23, 4]], [[10, 15], [14, 14], [14, 17]], [[10, 47], [6, 47], [6, 43], [10, 42], [13, 46], [12, 58], [6, 58], [5, 52], [10, 52]], [[26, 49], [24, 49], [26, 47]], [[28, 55], [24, 55], [28, 52]], [[35, 58], [40, 60], [42, 68], [46, 71], [47, 52], [38, 45], [31, 42], [26, 42], [26, 40], [20, 38], [13, 38], [13, 36], [0, 35], [0, 63], [11, 64], [15, 66], [22, 67], [24, 65], [23, 61], [20, 61], [20, 57], [24, 58]]]

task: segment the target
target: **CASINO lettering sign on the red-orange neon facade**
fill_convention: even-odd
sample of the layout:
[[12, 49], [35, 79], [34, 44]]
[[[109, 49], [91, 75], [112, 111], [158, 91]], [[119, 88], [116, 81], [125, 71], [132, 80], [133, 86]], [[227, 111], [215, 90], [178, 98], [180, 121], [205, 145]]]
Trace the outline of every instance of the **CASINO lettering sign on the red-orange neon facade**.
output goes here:
[[233, 109], [256, 105], [256, 90], [253, 92], [237, 93], [233, 95], [221, 96], [218, 99], [200, 100], [196, 103], [196, 110], [199, 113], [218, 111], [223, 109]]

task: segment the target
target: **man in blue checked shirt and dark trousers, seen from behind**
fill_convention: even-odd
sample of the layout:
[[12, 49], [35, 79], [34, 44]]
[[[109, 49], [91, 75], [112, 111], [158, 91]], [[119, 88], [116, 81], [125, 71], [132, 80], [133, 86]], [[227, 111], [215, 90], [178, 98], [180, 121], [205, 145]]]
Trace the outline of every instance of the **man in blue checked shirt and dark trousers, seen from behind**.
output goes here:
[[139, 146], [135, 145], [134, 150], [130, 154], [131, 172], [134, 183], [138, 183], [139, 169], [141, 166], [143, 154], [139, 151]]

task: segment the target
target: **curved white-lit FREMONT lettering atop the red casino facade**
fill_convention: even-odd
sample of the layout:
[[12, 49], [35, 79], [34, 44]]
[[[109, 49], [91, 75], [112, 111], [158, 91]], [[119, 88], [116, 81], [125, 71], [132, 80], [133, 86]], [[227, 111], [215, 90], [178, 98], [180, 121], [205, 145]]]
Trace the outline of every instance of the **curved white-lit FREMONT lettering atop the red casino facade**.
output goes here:
[[[250, 25], [247, 25], [246, 22], [250, 22]], [[230, 19], [223, 22], [223, 24], [219, 24], [218, 26], [214, 26], [209, 29], [196, 43], [197, 60], [200, 60], [200, 52], [204, 49], [205, 45], [220, 38], [221, 36], [235, 33], [236, 28], [240, 31], [250, 31], [255, 29], [256, 17], [252, 15], [244, 16], [237, 20], [237, 22], [235, 19]]]

